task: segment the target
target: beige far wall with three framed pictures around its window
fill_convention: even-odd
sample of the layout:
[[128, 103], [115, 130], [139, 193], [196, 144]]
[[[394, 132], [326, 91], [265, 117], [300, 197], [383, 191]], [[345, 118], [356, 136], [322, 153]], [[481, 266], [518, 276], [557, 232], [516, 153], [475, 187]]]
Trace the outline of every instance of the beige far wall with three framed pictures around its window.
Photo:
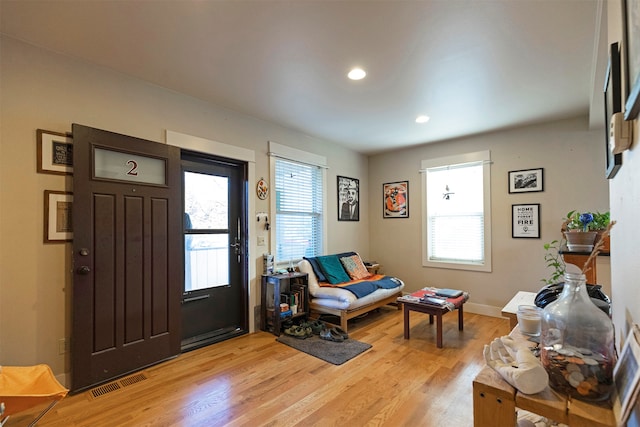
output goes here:
[[[567, 212], [609, 209], [603, 135], [604, 128], [589, 130], [585, 117], [371, 157], [372, 257], [385, 266], [386, 272], [402, 277], [407, 291], [424, 286], [465, 289], [471, 294], [469, 311], [499, 315], [517, 291], [537, 292], [544, 285], [540, 280], [549, 273], [543, 244], [560, 239], [560, 226]], [[420, 161], [479, 150], [491, 151], [493, 272], [422, 267]], [[509, 194], [508, 172], [534, 168], [544, 168], [544, 191]], [[383, 219], [382, 184], [398, 180], [409, 180], [409, 218]], [[511, 205], [521, 203], [540, 203], [540, 239], [511, 237]], [[599, 282], [608, 283], [608, 260], [601, 260], [598, 267]]]

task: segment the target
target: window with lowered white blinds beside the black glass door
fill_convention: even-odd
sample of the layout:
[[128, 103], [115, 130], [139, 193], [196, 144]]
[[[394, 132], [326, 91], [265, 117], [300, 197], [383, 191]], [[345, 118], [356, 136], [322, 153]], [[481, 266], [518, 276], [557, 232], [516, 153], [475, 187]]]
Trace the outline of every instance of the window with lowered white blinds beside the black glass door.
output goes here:
[[318, 166], [275, 160], [278, 262], [322, 255], [323, 182]]

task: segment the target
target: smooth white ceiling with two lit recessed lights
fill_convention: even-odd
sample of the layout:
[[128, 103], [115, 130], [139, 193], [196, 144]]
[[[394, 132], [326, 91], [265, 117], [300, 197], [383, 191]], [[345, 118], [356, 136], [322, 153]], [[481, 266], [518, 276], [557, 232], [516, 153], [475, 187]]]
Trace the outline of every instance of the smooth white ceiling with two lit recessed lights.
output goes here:
[[[604, 116], [602, 0], [1, 0], [0, 8], [7, 36], [363, 153]], [[348, 80], [353, 66], [368, 76]], [[418, 125], [418, 114], [431, 120]]]

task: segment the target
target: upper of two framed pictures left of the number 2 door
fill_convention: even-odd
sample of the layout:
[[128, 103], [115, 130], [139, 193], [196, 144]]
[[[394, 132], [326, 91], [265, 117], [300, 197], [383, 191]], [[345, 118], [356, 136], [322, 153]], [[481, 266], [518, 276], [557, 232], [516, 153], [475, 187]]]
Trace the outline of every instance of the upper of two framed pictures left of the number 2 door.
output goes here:
[[38, 129], [38, 172], [73, 174], [73, 139], [71, 136]]

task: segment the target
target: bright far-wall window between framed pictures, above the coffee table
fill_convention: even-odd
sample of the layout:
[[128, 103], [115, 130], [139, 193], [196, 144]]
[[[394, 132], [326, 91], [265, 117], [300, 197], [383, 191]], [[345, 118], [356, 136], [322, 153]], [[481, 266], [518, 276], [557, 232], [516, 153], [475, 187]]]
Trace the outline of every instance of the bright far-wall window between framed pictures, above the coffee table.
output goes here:
[[426, 266], [491, 271], [489, 159], [473, 154], [423, 162]]

